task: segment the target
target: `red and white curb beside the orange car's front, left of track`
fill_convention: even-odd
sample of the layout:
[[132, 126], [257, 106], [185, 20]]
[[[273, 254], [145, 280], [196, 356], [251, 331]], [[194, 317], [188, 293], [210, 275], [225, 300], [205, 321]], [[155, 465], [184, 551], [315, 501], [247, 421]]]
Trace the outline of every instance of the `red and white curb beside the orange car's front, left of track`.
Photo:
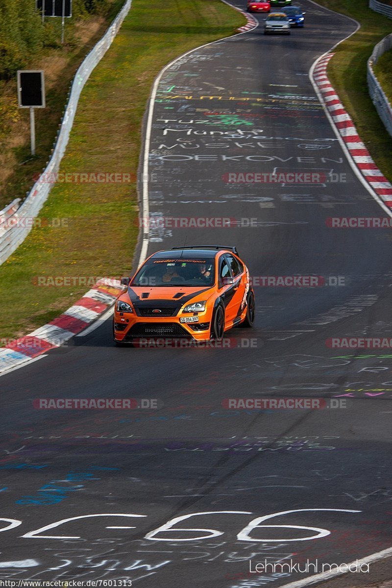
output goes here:
[[78, 335], [113, 305], [123, 286], [119, 280], [100, 279], [68, 310], [29, 335], [0, 348], [0, 375], [60, 347]]

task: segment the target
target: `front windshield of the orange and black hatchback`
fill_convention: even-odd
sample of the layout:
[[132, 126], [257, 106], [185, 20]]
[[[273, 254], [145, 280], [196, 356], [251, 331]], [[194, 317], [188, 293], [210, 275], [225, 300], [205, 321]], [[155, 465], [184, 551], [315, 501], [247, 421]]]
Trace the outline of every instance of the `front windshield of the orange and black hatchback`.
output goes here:
[[130, 286], [212, 286], [213, 258], [149, 259], [136, 273]]

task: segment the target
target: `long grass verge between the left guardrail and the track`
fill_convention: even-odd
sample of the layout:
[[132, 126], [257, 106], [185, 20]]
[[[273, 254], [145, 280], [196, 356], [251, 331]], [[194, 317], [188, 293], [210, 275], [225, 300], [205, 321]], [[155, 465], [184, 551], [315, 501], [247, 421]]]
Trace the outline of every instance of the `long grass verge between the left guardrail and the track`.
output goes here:
[[[143, 113], [160, 69], [245, 22], [220, 0], [166, 0], [158, 19], [145, 0], [133, 0], [83, 89], [61, 171], [136, 174]], [[37, 286], [36, 276], [119, 276], [131, 268], [139, 232], [136, 183], [58, 183], [40, 218], [67, 219], [69, 226], [33, 229], [0, 266], [1, 338], [42, 326], [88, 290]]]

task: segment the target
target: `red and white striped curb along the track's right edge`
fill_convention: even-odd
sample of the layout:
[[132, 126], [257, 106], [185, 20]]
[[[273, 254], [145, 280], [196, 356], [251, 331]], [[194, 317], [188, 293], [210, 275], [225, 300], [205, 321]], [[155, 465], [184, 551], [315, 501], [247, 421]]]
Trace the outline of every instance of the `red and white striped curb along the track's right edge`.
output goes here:
[[349, 113], [344, 109], [339, 96], [327, 77], [327, 65], [333, 55], [334, 53], [329, 53], [317, 62], [313, 70], [313, 81], [319, 89], [321, 100], [327, 112], [329, 112], [341, 139], [343, 139], [356, 168], [383, 204], [388, 208], [392, 208], [392, 184], [377, 168], [366, 146], [361, 142], [356, 126]]

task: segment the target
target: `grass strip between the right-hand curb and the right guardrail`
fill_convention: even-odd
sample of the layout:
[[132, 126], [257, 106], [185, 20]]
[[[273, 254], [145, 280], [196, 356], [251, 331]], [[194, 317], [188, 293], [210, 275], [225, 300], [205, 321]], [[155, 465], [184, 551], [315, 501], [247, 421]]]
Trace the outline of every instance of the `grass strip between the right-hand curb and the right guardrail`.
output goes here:
[[329, 79], [357, 127], [362, 141], [384, 175], [392, 181], [392, 138], [371, 102], [366, 64], [374, 45], [391, 32], [391, 20], [368, 8], [368, 0], [317, 0], [356, 19], [359, 31], [337, 46], [328, 65]]

